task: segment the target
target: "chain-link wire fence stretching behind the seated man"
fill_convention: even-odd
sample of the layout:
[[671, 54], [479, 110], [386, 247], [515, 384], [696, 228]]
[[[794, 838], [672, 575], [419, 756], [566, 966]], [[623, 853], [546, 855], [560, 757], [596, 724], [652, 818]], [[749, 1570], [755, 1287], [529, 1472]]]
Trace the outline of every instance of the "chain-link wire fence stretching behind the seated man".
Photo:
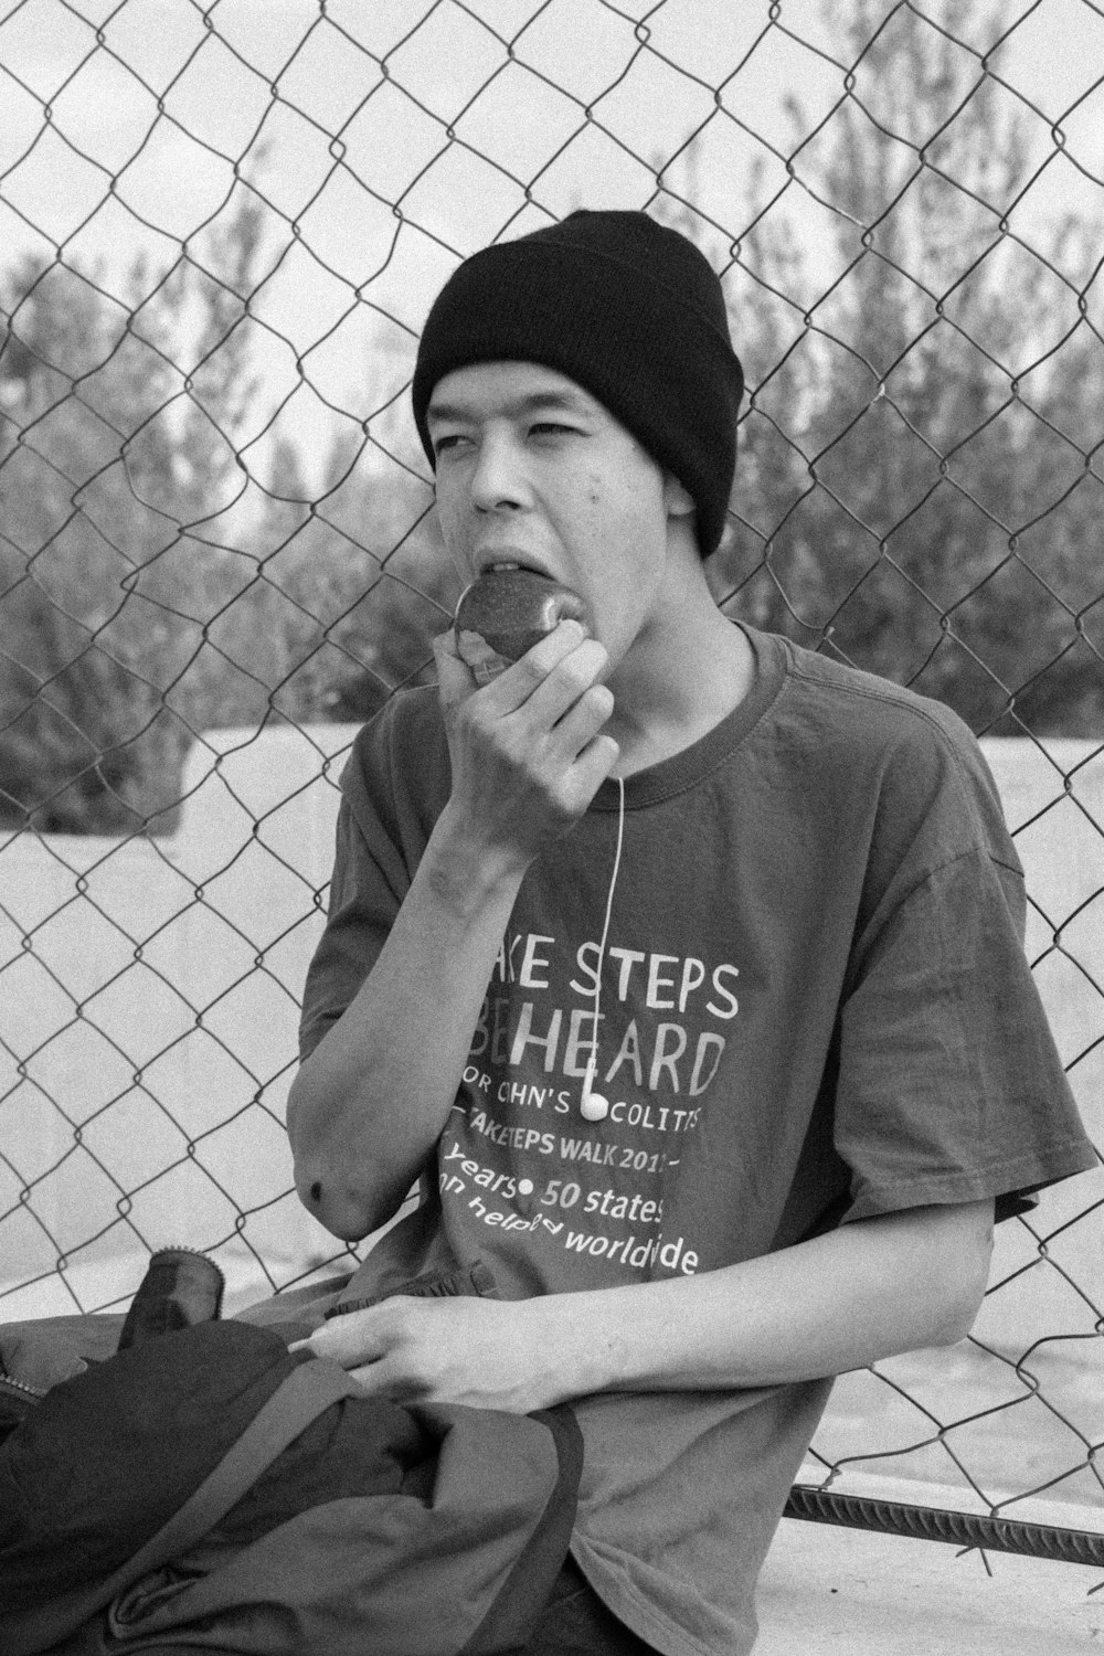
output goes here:
[[[730, 298], [718, 601], [985, 739], [1099, 1143], [1104, 10], [0, 12], [0, 1315], [124, 1303], [167, 1242], [237, 1303], [348, 1264], [283, 1103], [341, 753], [455, 596], [417, 328], [579, 204]], [[846, 1376], [808, 1479], [1104, 1528], [1102, 1211], [1003, 1225], [973, 1338]]]

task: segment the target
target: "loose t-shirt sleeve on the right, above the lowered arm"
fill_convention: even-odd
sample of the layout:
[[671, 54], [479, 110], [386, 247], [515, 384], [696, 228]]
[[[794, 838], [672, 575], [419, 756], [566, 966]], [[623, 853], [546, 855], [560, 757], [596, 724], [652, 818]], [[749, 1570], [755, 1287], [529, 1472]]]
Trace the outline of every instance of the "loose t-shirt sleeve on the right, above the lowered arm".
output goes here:
[[983, 1197], [1010, 1217], [1096, 1166], [1023, 949], [1023, 874], [988, 777], [978, 810], [970, 775], [963, 792], [952, 770], [929, 806], [943, 826], [915, 835], [943, 856], [922, 874], [905, 856], [841, 1009], [834, 1138], [847, 1219]]

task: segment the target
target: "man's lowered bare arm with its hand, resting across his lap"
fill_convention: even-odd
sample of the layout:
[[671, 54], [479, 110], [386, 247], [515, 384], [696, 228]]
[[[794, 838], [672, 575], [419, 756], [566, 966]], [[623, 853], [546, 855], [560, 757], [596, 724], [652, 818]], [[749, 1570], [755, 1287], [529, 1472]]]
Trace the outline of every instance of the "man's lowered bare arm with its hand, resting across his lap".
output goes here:
[[746, 1391], [960, 1340], [993, 1204], [915, 1207], [697, 1277], [531, 1300], [404, 1298], [310, 1338], [371, 1394], [528, 1413], [602, 1391]]

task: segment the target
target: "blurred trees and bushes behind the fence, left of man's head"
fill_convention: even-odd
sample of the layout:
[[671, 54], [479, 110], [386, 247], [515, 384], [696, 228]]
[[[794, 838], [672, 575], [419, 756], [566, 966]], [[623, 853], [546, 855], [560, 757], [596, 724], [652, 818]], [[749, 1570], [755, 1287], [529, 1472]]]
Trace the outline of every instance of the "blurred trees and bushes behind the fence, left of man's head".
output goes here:
[[367, 439], [314, 492], [286, 442], [263, 485], [243, 464], [258, 225], [243, 195], [121, 300], [60, 262], [0, 288], [0, 826], [167, 831], [204, 729], [362, 719], [427, 674], [429, 487]]

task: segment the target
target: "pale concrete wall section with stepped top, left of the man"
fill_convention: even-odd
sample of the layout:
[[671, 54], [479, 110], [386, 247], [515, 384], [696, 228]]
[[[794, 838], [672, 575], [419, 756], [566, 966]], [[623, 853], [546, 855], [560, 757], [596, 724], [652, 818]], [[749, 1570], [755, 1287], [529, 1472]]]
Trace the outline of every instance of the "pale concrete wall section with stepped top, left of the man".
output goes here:
[[235, 1282], [339, 1252], [283, 1111], [354, 734], [210, 732], [172, 838], [0, 841], [0, 1282], [33, 1283], [0, 1315], [127, 1295], [170, 1242]]

